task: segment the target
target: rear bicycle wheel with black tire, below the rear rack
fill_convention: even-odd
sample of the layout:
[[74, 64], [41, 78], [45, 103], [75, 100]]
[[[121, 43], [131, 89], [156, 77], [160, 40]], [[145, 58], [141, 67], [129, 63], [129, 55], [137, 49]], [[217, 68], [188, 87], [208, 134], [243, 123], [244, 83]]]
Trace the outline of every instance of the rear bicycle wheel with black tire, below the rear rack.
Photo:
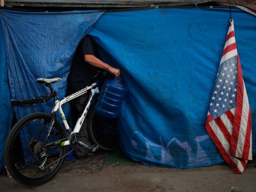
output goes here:
[[17, 182], [36, 186], [48, 182], [59, 172], [65, 160], [62, 156], [66, 154], [66, 146], [54, 145], [47, 148], [45, 169], [39, 168], [45, 160], [44, 157], [40, 157], [44, 144], [66, 138], [65, 130], [56, 120], [45, 141], [50, 123], [51, 115], [33, 113], [24, 116], [11, 129], [4, 147], [4, 160], [8, 172]]

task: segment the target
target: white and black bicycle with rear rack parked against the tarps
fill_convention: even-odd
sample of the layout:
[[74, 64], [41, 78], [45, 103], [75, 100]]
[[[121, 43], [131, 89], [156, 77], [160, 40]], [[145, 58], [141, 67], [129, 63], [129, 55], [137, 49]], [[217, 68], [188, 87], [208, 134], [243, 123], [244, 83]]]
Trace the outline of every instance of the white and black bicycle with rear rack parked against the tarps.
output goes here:
[[[118, 147], [116, 119], [103, 118], [95, 112], [95, 102], [99, 95], [100, 83], [108, 77], [107, 72], [98, 72], [93, 79], [96, 83], [86, 86], [72, 95], [58, 100], [57, 92], [51, 84], [61, 81], [61, 78], [38, 78], [36, 82], [47, 86], [51, 93], [45, 97], [11, 100], [15, 106], [29, 107], [41, 102], [54, 100], [50, 114], [32, 113], [21, 118], [13, 125], [4, 147], [6, 168], [13, 179], [25, 185], [40, 185], [52, 179], [61, 169], [65, 156], [78, 146], [95, 152], [98, 148], [114, 150]], [[90, 93], [83, 113], [79, 116], [74, 129], [70, 129], [62, 105], [85, 93]], [[63, 126], [56, 118], [60, 114]], [[89, 111], [89, 112], [88, 112]], [[88, 117], [88, 131], [92, 146], [80, 141], [79, 131], [84, 119]], [[67, 146], [72, 150], [67, 152]]]

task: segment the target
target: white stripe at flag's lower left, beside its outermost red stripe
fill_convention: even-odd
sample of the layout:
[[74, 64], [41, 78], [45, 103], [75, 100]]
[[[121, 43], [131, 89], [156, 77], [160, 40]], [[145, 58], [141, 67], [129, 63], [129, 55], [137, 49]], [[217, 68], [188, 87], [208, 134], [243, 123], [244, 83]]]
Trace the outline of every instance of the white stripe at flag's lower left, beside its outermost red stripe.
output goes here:
[[230, 151], [229, 151], [230, 145], [229, 145], [228, 141], [226, 140], [225, 136], [220, 131], [220, 127], [218, 127], [218, 125], [214, 121], [209, 122], [209, 125], [211, 126], [212, 131], [216, 134], [218, 140], [221, 142], [221, 145], [227, 152], [230, 159], [236, 164], [237, 168], [242, 173], [244, 171], [244, 167], [241, 164], [241, 161], [239, 159], [237, 159], [236, 157], [230, 156]]

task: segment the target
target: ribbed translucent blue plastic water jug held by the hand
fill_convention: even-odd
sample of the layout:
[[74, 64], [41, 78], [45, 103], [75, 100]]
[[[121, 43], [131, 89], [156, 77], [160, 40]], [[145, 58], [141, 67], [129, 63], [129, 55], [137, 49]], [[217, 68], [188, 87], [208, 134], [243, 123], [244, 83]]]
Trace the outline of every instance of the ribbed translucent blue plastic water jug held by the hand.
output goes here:
[[128, 88], [122, 77], [106, 79], [95, 106], [96, 112], [105, 118], [116, 118]]

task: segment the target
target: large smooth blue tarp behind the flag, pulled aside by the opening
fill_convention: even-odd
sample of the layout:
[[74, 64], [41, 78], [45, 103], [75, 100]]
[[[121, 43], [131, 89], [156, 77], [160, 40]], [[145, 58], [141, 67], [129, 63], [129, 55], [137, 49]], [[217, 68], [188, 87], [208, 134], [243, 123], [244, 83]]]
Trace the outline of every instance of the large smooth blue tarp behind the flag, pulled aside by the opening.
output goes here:
[[[256, 17], [241, 10], [232, 17], [255, 154]], [[106, 13], [95, 23], [90, 35], [129, 84], [120, 116], [120, 144], [129, 157], [178, 168], [223, 162], [205, 120], [229, 19], [223, 8], [169, 8]]]

